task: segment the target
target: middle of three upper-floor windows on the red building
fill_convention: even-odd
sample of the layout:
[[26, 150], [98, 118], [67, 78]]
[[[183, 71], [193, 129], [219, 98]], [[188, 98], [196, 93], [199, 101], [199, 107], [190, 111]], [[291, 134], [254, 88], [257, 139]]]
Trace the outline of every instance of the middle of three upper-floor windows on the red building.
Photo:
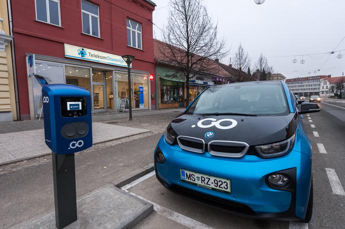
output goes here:
[[98, 5], [88, 1], [81, 1], [81, 17], [83, 33], [99, 37], [99, 10]]

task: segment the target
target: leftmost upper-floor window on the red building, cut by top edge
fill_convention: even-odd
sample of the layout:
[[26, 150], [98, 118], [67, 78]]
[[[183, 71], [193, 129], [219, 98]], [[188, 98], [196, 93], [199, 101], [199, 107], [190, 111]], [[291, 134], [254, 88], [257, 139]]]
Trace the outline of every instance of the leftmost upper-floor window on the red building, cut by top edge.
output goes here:
[[35, 0], [36, 19], [50, 24], [60, 24], [59, 0]]

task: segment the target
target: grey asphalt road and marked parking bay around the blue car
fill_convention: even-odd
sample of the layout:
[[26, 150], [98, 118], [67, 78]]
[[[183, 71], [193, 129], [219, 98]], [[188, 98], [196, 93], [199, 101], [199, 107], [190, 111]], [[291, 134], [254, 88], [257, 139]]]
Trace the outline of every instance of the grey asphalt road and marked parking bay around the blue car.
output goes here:
[[323, 101], [319, 103], [320, 112], [303, 117], [313, 150], [314, 205], [310, 223], [257, 220], [226, 213], [168, 191], [152, 172], [136, 185], [124, 187], [155, 203], [155, 213], [136, 228], [345, 228], [345, 101]]

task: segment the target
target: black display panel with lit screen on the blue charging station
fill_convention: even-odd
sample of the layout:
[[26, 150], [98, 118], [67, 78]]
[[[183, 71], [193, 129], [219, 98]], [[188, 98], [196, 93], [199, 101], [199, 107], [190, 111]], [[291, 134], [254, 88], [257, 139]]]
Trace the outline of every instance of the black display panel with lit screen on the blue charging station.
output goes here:
[[86, 115], [86, 97], [61, 97], [61, 116], [79, 117]]

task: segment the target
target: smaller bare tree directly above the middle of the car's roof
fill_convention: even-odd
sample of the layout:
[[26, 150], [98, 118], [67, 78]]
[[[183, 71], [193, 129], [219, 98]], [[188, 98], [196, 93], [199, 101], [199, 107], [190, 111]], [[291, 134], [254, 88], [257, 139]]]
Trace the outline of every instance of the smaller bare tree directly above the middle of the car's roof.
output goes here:
[[250, 67], [250, 64], [251, 64], [251, 59], [248, 55], [248, 52], [244, 51], [242, 44], [240, 43], [235, 53], [234, 61], [233, 61], [234, 67], [237, 68], [237, 74], [235, 75], [237, 82], [248, 80], [248, 77], [250, 75], [243, 72], [243, 70], [248, 69]]

